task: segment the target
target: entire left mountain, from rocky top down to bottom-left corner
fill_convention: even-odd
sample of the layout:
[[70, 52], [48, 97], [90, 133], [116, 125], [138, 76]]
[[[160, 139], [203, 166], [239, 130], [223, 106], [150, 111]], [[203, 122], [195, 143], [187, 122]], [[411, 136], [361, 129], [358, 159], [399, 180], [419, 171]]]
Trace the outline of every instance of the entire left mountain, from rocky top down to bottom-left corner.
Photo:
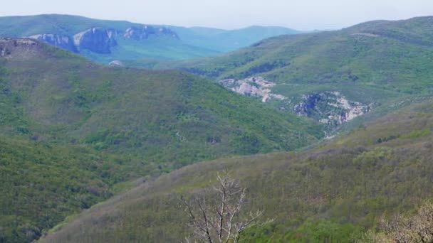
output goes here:
[[196, 75], [98, 65], [29, 38], [0, 38], [0, 107], [2, 242], [37, 239], [128, 180], [323, 136]]

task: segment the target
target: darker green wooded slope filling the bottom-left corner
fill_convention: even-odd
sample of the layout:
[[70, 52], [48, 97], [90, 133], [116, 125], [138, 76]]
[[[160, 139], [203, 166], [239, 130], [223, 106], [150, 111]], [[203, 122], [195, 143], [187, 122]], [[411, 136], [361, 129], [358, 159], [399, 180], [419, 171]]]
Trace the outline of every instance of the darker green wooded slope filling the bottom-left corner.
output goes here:
[[1, 242], [31, 242], [66, 216], [109, 198], [116, 183], [150, 172], [130, 158], [83, 146], [0, 137]]

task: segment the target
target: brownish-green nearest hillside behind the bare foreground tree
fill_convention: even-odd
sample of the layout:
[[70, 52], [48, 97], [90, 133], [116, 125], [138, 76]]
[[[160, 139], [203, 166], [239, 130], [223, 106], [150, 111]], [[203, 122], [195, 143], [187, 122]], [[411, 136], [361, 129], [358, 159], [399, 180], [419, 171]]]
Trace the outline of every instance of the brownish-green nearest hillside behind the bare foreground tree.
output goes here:
[[86, 210], [41, 242], [177, 242], [190, 233], [180, 195], [203, 193], [225, 169], [248, 188], [244, 211], [276, 219], [251, 229], [248, 241], [353, 242], [382, 215], [432, 198], [432, 104], [412, 104], [310, 151], [181, 168]]

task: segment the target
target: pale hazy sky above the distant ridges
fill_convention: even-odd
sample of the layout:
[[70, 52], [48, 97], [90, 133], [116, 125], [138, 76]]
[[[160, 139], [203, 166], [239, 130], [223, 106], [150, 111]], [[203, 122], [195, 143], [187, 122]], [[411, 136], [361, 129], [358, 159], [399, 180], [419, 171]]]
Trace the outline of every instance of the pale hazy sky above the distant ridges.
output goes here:
[[68, 13], [177, 26], [335, 29], [433, 15], [433, 0], [4, 0], [0, 16]]

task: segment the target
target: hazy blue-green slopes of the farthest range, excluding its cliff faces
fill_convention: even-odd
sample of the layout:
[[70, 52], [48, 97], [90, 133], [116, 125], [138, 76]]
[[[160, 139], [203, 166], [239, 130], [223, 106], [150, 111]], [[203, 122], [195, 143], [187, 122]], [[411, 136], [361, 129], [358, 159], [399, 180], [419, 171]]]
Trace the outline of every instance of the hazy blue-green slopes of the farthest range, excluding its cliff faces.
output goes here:
[[56, 34], [73, 37], [89, 28], [102, 28], [114, 31], [118, 45], [111, 48], [110, 53], [93, 53], [84, 51], [80, 54], [98, 61], [110, 63], [113, 60], [142, 60], [156, 58], [158, 60], [183, 60], [218, 55], [237, 48], [246, 47], [263, 38], [283, 34], [295, 34], [290, 28], [251, 26], [239, 30], [220, 30], [214, 28], [151, 25], [154, 28], [167, 27], [174, 31], [173, 36], [157, 36], [141, 40], [125, 38], [128, 28], [142, 28], [141, 23], [128, 21], [109, 21], [85, 18], [82, 16], [43, 14], [37, 16], [0, 17], [0, 36], [28, 37], [38, 34]]

